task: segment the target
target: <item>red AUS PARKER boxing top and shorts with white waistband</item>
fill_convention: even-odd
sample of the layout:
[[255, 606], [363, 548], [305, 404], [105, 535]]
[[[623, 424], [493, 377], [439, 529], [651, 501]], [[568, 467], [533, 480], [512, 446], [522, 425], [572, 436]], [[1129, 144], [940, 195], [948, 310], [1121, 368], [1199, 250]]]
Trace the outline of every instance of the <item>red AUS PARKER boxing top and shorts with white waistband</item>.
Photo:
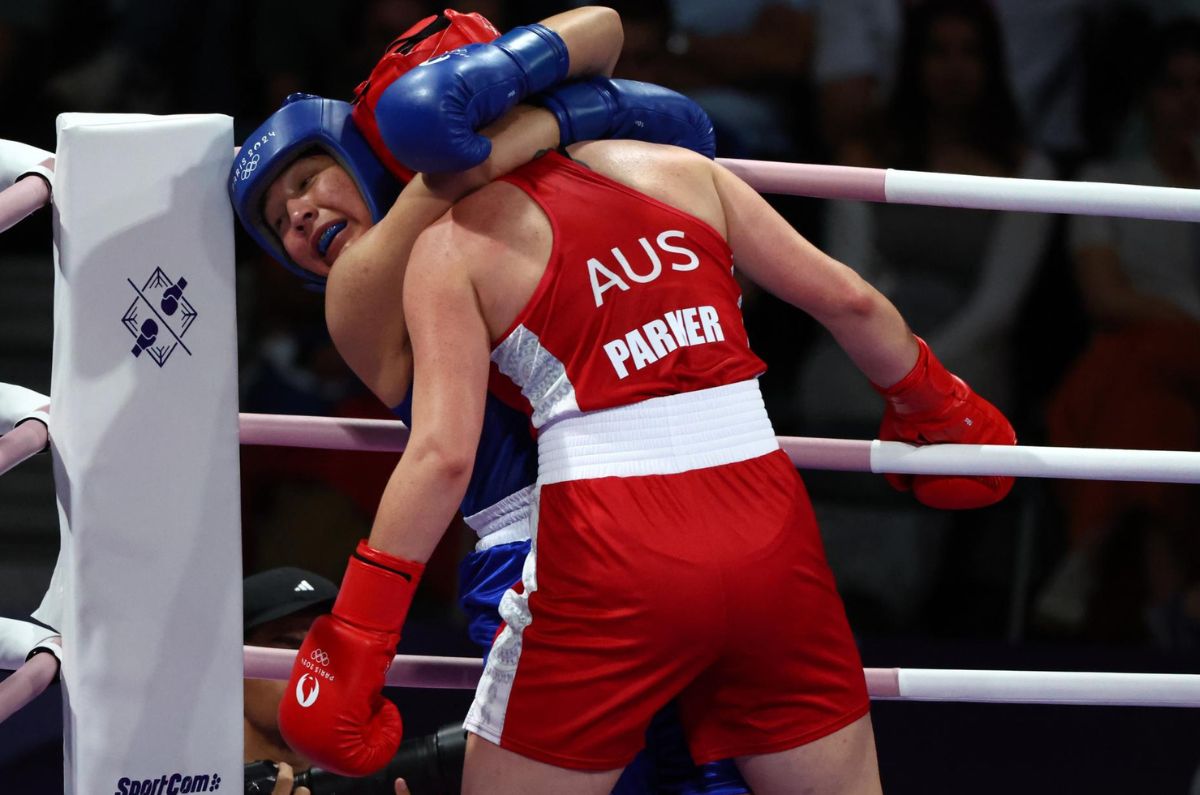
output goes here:
[[728, 245], [558, 154], [505, 181], [553, 229], [492, 354], [538, 429], [538, 513], [467, 728], [608, 770], [674, 698], [697, 763], [858, 719], [862, 663], [762, 406]]

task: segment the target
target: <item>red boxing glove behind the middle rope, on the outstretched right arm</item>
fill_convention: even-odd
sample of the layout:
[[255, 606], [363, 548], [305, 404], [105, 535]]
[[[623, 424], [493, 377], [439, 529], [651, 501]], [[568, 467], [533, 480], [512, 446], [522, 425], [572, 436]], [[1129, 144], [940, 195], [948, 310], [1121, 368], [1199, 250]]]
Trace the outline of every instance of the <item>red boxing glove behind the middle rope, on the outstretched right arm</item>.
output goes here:
[[[880, 440], [908, 444], [1016, 444], [1016, 434], [1000, 411], [971, 391], [917, 337], [917, 364], [899, 383], [875, 387], [887, 400]], [[949, 474], [884, 474], [899, 491], [931, 508], [983, 508], [1003, 500], [1015, 478]]]

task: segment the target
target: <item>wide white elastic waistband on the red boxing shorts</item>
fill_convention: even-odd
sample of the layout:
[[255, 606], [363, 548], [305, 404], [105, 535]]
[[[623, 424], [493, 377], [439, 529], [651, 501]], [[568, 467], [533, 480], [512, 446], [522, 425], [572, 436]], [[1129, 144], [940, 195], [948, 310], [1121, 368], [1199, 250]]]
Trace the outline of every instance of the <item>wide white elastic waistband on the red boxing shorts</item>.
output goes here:
[[674, 474], [779, 449], [758, 381], [565, 417], [538, 434], [538, 482]]

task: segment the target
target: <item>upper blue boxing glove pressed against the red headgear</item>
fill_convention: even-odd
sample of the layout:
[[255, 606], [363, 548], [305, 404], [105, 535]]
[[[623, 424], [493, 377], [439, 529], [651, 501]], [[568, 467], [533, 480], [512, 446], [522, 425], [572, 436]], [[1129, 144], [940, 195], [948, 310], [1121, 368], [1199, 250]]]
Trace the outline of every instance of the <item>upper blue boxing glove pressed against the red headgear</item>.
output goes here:
[[568, 66], [558, 34], [545, 25], [514, 28], [396, 79], [376, 106], [379, 132], [391, 154], [414, 171], [464, 171], [492, 153], [492, 142], [475, 130], [562, 80]]

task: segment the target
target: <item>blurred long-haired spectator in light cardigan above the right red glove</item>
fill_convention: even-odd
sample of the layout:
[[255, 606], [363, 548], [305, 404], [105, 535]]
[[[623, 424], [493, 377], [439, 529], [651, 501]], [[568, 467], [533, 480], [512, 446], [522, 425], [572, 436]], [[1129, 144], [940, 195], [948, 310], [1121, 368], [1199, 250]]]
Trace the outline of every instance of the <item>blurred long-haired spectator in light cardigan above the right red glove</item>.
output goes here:
[[[1025, 142], [1001, 31], [982, 1], [931, 0], [910, 12], [886, 135], [870, 144], [859, 159], [872, 166], [1054, 174]], [[1045, 215], [839, 202], [826, 249], [880, 287], [947, 367], [1009, 412], [1013, 331], [1050, 227]], [[797, 394], [805, 424], [824, 430], [872, 431], [883, 407], [828, 337], [802, 366]]]

